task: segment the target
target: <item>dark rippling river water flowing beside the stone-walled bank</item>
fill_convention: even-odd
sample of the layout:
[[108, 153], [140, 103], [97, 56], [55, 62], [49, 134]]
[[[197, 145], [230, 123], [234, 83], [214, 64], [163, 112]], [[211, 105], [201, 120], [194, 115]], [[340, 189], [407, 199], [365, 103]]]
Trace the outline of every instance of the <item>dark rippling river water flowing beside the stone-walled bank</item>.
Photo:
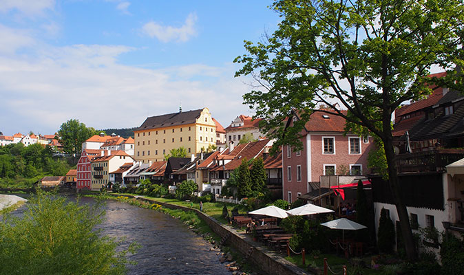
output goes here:
[[[72, 197], [70, 197], [72, 199]], [[94, 203], [82, 197], [81, 203]], [[13, 212], [21, 215], [23, 208]], [[123, 247], [136, 242], [141, 247], [129, 260], [128, 274], [231, 274], [219, 261], [211, 245], [167, 214], [108, 200], [100, 228], [103, 234], [125, 239]]]

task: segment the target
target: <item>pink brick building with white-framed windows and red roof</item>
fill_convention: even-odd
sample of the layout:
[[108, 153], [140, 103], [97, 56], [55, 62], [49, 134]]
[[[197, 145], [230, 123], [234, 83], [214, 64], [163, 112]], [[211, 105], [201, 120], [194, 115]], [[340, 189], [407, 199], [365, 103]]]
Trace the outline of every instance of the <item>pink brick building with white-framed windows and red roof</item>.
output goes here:
[[[294, 115], [292, 120], [298, 120]], [[293, 122], [290, 122], [293, 123]], [[283, 198], [289, 202], [313, 190], [309, 182], [321, 175], [364, 175], [372, 137], [344, 135], [345, 119], [315, 111], [306, 122], [300, 140], [301, 151], [282, 147]]]

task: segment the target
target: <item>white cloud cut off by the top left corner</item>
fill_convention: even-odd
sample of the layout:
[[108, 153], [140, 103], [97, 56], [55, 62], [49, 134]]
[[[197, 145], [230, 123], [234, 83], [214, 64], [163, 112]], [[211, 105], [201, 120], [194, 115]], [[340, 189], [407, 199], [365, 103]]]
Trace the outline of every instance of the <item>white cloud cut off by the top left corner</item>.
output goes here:
[[27, 16], [41, 16], [45, 10], [53, 10], [55, 0], [1, 0], [0, 12], [15, 10]]

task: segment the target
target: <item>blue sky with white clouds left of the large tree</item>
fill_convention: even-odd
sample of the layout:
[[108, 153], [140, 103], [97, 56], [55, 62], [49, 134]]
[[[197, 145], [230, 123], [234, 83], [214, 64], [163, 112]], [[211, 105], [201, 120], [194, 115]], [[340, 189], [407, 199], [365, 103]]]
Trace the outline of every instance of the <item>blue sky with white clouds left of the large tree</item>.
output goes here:
[[1, 0], [0, 131], [129, 128], [180, 106], [224, 127], [253, 115], [233, 59], [277, 28], [271, 3]]

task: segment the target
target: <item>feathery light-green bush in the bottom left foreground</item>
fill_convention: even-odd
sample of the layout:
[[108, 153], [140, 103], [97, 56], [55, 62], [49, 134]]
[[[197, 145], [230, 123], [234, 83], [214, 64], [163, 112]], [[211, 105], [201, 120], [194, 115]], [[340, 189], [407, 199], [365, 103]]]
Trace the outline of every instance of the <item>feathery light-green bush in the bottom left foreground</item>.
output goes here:
[[[23, 218], [0, 223], [2, 274], [125, 274], [129, 249], [96, 226], [104, 210], [38, 192]], [[119, 252], [117, 252], [118, 250]]]

